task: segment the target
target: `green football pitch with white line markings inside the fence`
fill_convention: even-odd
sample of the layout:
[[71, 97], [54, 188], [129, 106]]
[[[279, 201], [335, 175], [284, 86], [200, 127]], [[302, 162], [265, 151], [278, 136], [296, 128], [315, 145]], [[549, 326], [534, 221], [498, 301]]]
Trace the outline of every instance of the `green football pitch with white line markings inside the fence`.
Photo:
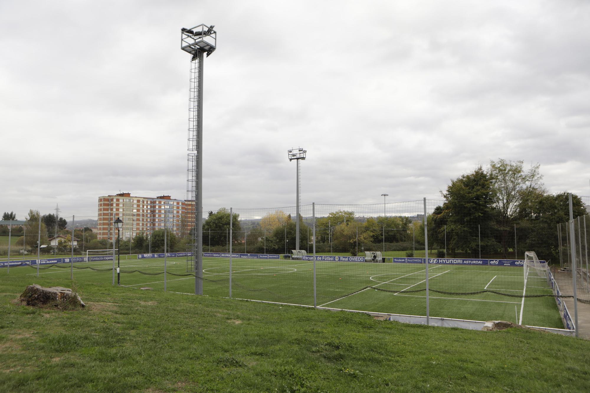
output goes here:
[[[230, 296], [228, 258], [205, 257], [204, 294]], [[164, 261], [135, 259], [120, 261], [122, 286], [164, 290]], [[76, 263], [74, 277], [85, 283], [110, 284], [112, 261]], [[187, 270], [186, 258], [166, 261], [166, 290], [195, 291], [195, 278]], [[91, 270], [93, 267], [97, 270]], [[13, 273], [14, 272], [14, 273]], [[132, 272], [132, 273], [131, 273]], [[429, 270], [430, 316], [469, 320], [508, 320], [530, 326], [563, 328], [553, 297], [527, 297], [523, 269], [519, 267], [431, 265]], [[11, 274], [32, 277], [35, 268], [11, 268]], [[297, 260], [232, 260], [231, 297], [289, 304], [314, 305], [313, 262]], [[41, 266], [40, 278], [68, 279], [70, 266]], [[366, 312], [426, 315], [426, 271], [422, 264], [316, 263], [316, 306]], [[497, 293], [473, 293], [493, 290]], [[445, 292], [437, 293], [435, 291]], [[552, 294], [546, 280], [531, 277], [526, 294]]]

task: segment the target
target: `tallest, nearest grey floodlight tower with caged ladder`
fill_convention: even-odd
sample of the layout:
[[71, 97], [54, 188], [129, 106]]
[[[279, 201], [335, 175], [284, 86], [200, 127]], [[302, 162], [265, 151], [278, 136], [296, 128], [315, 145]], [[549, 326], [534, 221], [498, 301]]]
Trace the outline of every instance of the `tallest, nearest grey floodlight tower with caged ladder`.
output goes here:
[[181, 29], [181, 49], [191, 54], [188, 107], [188, 159], [186, 193], [192, 202], [188, 212], [192, 235], [191, 270], [195, 271], [195, 294], [203, 294], [203, 54], [215, 51], [215, 26], [204, 24]]

